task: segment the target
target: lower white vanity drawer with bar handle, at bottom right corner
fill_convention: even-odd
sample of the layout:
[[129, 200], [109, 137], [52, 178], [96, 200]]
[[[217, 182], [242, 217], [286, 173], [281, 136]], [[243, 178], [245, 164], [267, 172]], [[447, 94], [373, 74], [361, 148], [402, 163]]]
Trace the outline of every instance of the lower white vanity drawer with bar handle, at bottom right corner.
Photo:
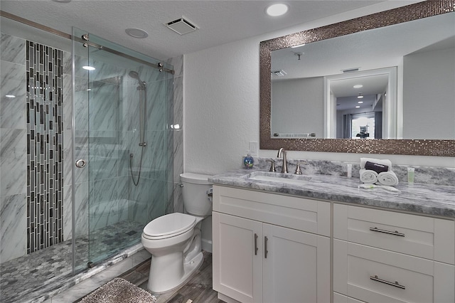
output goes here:
[[455, 267], [333, 240], [333, 291], [365, 302], [454, 302]]

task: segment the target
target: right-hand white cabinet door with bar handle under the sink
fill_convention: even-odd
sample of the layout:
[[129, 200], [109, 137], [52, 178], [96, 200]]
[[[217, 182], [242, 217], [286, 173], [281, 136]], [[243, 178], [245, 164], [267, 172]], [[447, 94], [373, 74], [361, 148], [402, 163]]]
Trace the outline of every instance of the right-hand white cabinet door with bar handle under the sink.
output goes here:
[[263, 302], [330, 302], [330, 239], [262, 225]]

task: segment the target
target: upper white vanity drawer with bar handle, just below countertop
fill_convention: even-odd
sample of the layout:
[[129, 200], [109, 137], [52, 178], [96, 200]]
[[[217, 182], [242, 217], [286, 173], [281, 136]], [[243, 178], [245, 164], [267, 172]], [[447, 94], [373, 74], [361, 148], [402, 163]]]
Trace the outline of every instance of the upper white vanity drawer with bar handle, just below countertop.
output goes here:
[[333, 238], [455, 264], [455, 223], [335, 204]]

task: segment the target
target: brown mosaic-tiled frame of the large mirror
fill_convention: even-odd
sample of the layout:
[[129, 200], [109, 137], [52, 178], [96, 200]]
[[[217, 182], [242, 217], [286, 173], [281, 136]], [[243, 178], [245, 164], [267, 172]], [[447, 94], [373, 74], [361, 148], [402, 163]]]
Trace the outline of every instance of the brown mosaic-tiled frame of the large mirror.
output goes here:
[[377, 14], [333, 23], [287, 36], [262, 41], [259, 47], [260, 60], [260, 149], [285, 149], [295, 151], [327, 151], [357, 154], [407, 154], [419, 156], [455, 156], [455, 140], [439, 139], [271, 139], [270, 113], [272, 50], [296, 46], [302, 43], [357, 33], [372, 28], [390, 26], [429, 16], [455, 11], [455, 0], [423, 1]]

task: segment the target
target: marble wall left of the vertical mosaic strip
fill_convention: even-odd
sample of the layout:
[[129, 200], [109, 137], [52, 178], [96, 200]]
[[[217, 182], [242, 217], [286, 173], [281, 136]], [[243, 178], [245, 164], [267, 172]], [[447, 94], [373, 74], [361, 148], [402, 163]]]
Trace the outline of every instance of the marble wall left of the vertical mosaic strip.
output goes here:
[[[0, 260], [27, 252], [26, 41], [1, 33]], [[9, 98], [6, 95], [16, 97]], [[8, 243], [8, 245], [3, 245]]]

